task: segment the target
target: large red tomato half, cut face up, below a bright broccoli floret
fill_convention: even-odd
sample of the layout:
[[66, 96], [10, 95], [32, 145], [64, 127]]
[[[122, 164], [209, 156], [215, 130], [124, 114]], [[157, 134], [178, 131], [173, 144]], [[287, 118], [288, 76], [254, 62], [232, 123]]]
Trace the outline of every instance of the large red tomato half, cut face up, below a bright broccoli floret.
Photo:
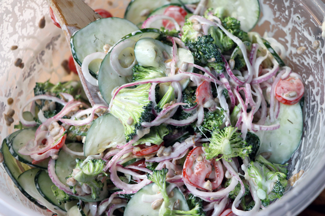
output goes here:
[[[192, 149], [183, 166], [183, 179], [187, 184], [202, 190], [207, 189], [207, 181], [212, 185], [212, 190], [220, 186], [223, 179], [223, 169], [220, 161], [205, 158], [202, 147]], [[206, 181], [206, 179], [208, 179]]]

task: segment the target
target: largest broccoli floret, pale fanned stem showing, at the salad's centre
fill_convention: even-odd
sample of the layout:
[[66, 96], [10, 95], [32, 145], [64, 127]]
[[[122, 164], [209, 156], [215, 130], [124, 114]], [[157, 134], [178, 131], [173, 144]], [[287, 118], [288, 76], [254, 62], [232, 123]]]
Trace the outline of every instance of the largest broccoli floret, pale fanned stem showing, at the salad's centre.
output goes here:
[[152, 101], [149, 101], [151, 83], [138, 85], [134, 89], [122, 89], [114, 98], [111, 114], [118, 118], [123, 126], [125, 140], [129, 142], [141, 130], [142, 122], [153, 118]]

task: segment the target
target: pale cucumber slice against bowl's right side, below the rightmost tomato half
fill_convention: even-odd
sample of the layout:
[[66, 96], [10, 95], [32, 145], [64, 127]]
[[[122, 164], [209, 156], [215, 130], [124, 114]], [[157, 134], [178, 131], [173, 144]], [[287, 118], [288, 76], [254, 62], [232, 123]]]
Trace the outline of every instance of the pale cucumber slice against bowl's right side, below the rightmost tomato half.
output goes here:
[[280, 103], [278, 119], [266, 122], [271, 125], [279, 122], [281, 127], [275, 131], [259, 131], [255, 133], [261, 141], [258, 153], [271, 152], [269, 161], [283, 164], [290, 159], [301, 142], [303, 131], [303, 112], [300, 104], [284, 105]]

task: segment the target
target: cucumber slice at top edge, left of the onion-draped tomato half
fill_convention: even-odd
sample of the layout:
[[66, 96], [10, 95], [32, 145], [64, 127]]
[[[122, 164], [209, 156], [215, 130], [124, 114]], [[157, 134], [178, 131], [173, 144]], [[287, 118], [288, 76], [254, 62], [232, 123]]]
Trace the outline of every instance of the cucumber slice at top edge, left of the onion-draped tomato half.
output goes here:
[[178, 3], [178, 0], [132, 0], [124, 14], [124, 19], [127, 19], [134, 24], [141, 23], [147, 19], [147, 16], [157, 8], [171, 3]]

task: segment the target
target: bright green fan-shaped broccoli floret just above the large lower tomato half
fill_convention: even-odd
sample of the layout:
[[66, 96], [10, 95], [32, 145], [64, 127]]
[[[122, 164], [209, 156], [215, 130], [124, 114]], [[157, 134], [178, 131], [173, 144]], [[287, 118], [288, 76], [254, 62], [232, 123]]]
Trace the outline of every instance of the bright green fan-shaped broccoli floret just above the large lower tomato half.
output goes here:
[[209, 160], [222, 154], [217, 160], [224, 158], [231, 161], [232, 157], [246, 157], [251, 152], [251, 146], [240, 137], [237, 127], [228, 126], [223, 129], [216, 129], [212, 132], [210, 144], [204, 144], [206, 147], [206, 158]]

